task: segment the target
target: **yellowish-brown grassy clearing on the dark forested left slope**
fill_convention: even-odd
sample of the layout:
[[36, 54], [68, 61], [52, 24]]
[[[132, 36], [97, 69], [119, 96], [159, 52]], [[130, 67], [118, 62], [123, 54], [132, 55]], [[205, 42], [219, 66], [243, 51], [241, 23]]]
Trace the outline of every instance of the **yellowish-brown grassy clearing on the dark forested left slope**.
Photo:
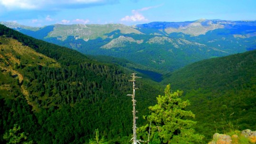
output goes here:
[[22, 45], [17, 40], [0, 37], [0, 42], [0, 69], [2, 75], [0, 77], [3, 78], [1, 80], [0, 93], [4, 98], [12, 99], [15, 95], [17, 96], [17, 93], [12, 88], [12, 86], [15, 86], [18, 91], [26, 96], [28, 103], [35, 108], [35, 104], [28, 98], [26, 85], [23, 85], [24, 82], [29, 81], [24, 76], [24, 73], [26, 73], [26, 68], [24, 67], [60, 68], [60, 64], [55, 59], [38, 53], [30, 47]]

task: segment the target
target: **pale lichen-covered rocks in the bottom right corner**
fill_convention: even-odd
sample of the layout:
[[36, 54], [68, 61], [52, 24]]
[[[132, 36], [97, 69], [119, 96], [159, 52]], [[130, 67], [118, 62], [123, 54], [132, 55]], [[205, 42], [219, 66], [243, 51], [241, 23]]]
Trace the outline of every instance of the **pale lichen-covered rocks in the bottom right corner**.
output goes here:
[[241, 144], [241, 141], [243, 141], [243, 144], [245, 141], [247, 141], [248, 144], [256, 144], [256, 131], [251, 131], [250, 129], [241, 132], [236, 131], [236, 134], [232, 136], [215, 133], [213, 140], [208, 144]]

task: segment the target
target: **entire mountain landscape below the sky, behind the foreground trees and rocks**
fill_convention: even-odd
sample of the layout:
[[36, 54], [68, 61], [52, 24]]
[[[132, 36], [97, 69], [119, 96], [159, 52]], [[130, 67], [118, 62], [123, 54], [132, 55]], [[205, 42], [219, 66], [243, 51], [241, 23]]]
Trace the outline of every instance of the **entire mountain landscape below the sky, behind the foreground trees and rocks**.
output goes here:
[[[138, 127], [145, 123], [142, 116], [148, 114], [148, 106], [154, 105], [164, 86], [171, 84], [172, 90], [184, 91], [182, 100], [190, 100], [188, 110], [196, 114], [194, 128], [205, 136], [204, 142], [216, 131], [256, 129], [254, 21], [119, 25], [112, 27], [113, 31], [96, 31], [107, 38], [88, 40], [81, 35], [67, 35], [66, 40], [62, 36], [46, 38], [56, 25], [35, 28], [8, 24], [62, 46], [0, 25], [0, 142], [5, 143], [4, 133], [18, 124], [36, 143], [88, 143], [98, 128], [108, 143], [127, 144], [132, 134], [132, 102], [126, 94], [132, 92], [128, 80], [134, 71], [142, 76], [136, 90]], [[186, 30], [195, 30], [197, 25], [211, 30], [205, 34]], [[59, 26], [66, 26], [68, 31], [77, 25]], [[184, 28], [183, 32], [167, 34], [170, 27]], [[141, 46], [141, 53], [137, 46]], [[77, 52], [82, 49], [95, 53]], [[153, 58], [155, 62], [150, 65], [147, 59]]]

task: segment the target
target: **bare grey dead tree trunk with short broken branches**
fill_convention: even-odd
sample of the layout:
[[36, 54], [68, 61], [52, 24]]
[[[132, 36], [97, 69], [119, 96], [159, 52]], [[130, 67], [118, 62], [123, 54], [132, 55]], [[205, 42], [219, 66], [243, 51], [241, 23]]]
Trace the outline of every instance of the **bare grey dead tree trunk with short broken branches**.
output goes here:
[[133, 138], [131, 139], [131, 140], [133, 140], [133, 144], [137, 144], [137, 142], [138, 142], [137, 134], [136, 134], [136, 128], [137, 128], [136, 127], [136, 119], [138, 119], [138, 117], [136, 117], [136, 112], [138, 112], [138, 111], [135, 110], [135, 106], [136, 106], [135, 90], [138, 88], [135, 87], [135, 82], [136, 82], [135, 78], [140, 78], [135, 75], [136, 75], [136, 73], [133, 73], [131, 76], [133, 79], [129, 80], [129, 82], [133, 82], [133, 94], [127, 94], [128, 96], [132, 96], [132, 102], [133, 102]]

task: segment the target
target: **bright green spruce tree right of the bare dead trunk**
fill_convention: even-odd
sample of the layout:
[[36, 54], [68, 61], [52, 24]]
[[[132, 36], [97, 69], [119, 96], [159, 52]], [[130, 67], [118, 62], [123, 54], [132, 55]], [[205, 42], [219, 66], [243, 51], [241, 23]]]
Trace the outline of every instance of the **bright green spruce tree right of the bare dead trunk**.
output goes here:
[[196, 122], [189, 118], [194, 118], [195, 115], [185, 110], [190, 102], [179, 98], [182, 93], [182, 91], [171, 93], [170, 84], [166, 86], [164, 95], [157, 97], [157, 104], [149, 107], [151, 115], [144, 117], [151, 122], [151, 126], [147, 124], [138, 128], [138, 136], [142, 140], [149, 144], [198, 144], [202, 142], [204, 136], [195, 134], [195, 130], [191, 128]]

